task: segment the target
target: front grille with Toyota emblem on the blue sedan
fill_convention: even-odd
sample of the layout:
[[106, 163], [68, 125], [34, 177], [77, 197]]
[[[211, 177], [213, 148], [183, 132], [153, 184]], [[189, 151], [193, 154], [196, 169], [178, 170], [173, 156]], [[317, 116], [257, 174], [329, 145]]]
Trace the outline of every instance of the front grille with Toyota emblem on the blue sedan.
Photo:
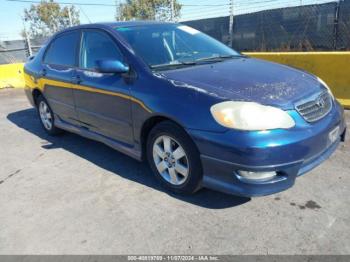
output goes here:
[[328, 91], [325, 91], [303, 100], [296, 105], [296, 109], [307, 122], [316, 122], [331, 111], [332, 97]]

